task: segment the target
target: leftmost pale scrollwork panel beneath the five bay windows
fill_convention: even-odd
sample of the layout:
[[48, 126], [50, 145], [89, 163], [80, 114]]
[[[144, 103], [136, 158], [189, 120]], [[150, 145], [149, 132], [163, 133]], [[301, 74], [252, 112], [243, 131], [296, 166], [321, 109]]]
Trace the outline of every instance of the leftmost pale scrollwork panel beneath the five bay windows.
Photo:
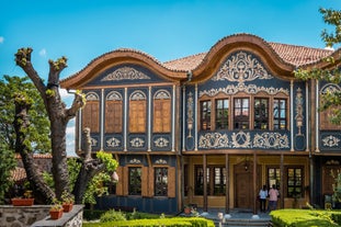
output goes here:
[[200, 148], [221, 148], [228, 147], [228, 138], [226, 134], [206, 133], [198, 139]]

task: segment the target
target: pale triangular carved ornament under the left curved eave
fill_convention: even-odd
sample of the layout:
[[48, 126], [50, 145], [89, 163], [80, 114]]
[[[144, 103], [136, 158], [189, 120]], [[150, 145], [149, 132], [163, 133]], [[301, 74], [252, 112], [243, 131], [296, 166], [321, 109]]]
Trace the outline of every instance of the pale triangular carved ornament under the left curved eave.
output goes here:
[[132, 67], [122, 67], [106, 75], [101, 81], [143, 80], [150, 79], [147, 75]]

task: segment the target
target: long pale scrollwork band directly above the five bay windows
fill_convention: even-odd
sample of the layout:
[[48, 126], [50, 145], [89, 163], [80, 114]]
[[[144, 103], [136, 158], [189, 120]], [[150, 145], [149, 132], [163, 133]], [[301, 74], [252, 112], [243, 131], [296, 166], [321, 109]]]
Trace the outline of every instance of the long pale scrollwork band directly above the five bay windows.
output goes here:
[[258, 87], [254, 84], [249, 84], [249, 86], [246, 86], [246, 84], [231, 86], [231, 84], [229, 84], [226, 88], [218, 88], [218, 89], [200, 91], [198, 97], [200, 98], [203, 95], [215, 97], [220, 92], [225, 93], [227, 95], [232, 95], [232, 94], [236, 94], [238, 92], [246, 92], [248, 94], [255, 94], [260, 91], [266, 92], [268, 94], [271, 94], [271, 95], [275, 95], [277, 93], [284, 93], [284, 94], [288, 95], [288, 93], [289, 93], [289, 91], [287, 89], [284, 89], [284, 88], [273, 88], [273, 87], [265, 88], [263, 86]]

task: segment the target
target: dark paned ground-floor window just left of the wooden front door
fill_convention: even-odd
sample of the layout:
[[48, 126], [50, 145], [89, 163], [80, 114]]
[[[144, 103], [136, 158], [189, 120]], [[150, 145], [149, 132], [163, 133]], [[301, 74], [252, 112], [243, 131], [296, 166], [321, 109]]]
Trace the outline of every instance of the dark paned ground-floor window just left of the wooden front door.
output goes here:
[[[195, 166], [195, 185], [194, 194], [204, 195], [204, 168]], [[207, 167], [207, 195], [225, 195], [226, 194], [226, 169], [225, 167]], [[213, 181], [211, 180], [213, 179]]]

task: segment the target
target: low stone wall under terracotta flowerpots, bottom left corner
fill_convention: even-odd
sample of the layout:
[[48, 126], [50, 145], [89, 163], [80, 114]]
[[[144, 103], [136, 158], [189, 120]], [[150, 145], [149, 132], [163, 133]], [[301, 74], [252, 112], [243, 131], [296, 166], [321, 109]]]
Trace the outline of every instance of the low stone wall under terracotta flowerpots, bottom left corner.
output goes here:
[[49, 218], [50, 205], [33, 206], [0, 206], [0, 227], [81, 227], [83, 218], [83, 205], [73, 205], [69, 213], [64, 213], [61, 218]]

